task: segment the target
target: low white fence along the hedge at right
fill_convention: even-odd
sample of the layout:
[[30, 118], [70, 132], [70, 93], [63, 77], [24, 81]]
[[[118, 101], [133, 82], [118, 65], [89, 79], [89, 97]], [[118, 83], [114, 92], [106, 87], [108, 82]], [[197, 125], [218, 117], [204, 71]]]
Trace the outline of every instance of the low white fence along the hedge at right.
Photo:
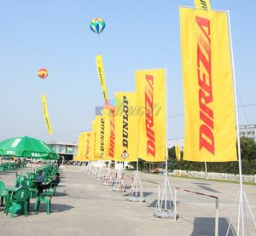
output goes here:
[[[189, 171], [189, 170], [173, 170], [172, 176], [195, 177], [206, 179], [204, 171]], [[225, 180], [225, 181], [239, 181], [239, 175], [228, 173], [208, 172], [207, 179]], [[242, 175], [242, 180], [256, 183], [256, 175]]]

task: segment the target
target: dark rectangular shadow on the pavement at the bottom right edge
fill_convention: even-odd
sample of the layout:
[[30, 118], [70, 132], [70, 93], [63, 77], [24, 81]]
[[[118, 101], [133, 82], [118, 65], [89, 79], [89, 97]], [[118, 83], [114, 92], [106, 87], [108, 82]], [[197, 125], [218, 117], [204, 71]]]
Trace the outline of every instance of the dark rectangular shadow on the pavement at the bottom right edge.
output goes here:
[[[218, 219], [218, 236], [225, 236], [229, 222], [226, 218]], [[212, 236], [215, 232], [215, 218], [211, 217], [195, 217], [194, 229], [190, 236]], [[234, 228], [230, 227], [228, 236], [236, 236]]]

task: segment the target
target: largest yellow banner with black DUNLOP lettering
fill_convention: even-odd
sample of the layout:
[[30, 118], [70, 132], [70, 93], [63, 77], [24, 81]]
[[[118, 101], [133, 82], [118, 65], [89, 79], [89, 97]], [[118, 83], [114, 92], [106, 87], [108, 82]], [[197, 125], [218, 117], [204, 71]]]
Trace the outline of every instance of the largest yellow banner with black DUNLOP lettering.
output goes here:
[[115, 93], [115, 146], [114, 159], [137, 161], [138, 116], [137, 96], [131, 92]]

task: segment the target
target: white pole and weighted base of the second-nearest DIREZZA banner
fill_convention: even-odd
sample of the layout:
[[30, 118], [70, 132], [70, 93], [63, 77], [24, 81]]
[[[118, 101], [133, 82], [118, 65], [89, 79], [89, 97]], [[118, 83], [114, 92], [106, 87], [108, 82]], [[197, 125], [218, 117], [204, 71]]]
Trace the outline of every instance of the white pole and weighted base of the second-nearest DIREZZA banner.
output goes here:
[[[174, 210], [172, 210], [171, 201], [174, 205], [176, 203], [174, 202], [171, 184], [168, 179], [168, 138], [167, 138], [167, 134], [168, 134], [168, 93], [167, 93], [167, 91], [168, 91], [168, 88], [167, 88], [167, 69], [166, 69], [166, 173], [165, 173], [164, 185], [162, 187], [162, 196], [161, 196], [161, 199], [158, 199], [158, 203], [155, 206], [153, 216], [155, 216], [157, 218], [172, 218], [174, 221], [176, 221], [177, 212], [174, 212]], [[168, 202], [170, 202], [169, 207], [168, 207]], [[163, 203], [164, 203], [164, 207], [163, 207]]]

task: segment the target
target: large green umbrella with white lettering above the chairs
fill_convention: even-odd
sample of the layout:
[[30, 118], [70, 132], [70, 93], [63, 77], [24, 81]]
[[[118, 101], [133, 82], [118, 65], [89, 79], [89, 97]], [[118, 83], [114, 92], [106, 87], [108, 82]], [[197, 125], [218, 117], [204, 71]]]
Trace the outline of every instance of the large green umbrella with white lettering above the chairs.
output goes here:
[[32, 137], [15, 137], [0, 142], [0, 156], [55, 160], [59, 155], [44, 141]]

